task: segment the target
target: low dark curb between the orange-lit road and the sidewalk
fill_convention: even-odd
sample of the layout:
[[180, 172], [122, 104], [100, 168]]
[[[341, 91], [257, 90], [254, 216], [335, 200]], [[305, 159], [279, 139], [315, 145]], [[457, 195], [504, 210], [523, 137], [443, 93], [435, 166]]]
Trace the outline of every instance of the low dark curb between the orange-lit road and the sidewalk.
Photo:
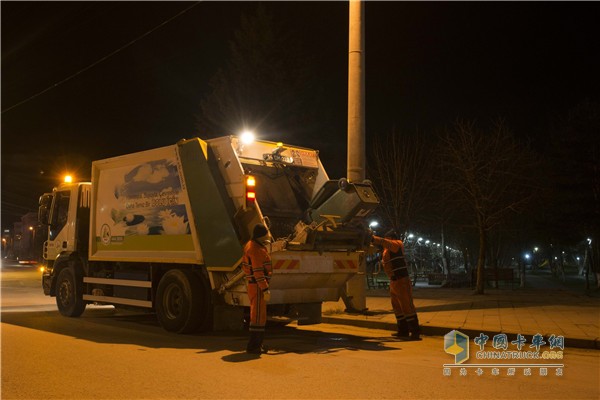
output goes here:
[[[397, 326], [395, 323], [386, 322], [386, 321], [375, 321], [369, 319], [359, 319], [359, 318], [344, 318], [342, 316], [327, 316], [323, 315], [321, 318], [321, 322], [325, 324], [334, 324], [334, 325], [349, 325], [356, 326], [359, 328], [367, 328], [367, 329], [380, 329], [386, 331], [396, 331]], [[507, 335], [509, 340], [514, 340], [517, 337], [517, 333], [515, 332], [499, 332], [499, 331], [488, 331], [488, 330], [476, 330], [476, 329], [468, 329], [461, 327], [447, 327], [447, 326], [431, 326], [431, 325], [421, 325], [421, 333], [425, 336], [444, 336], [448, 332], [452, 330], [459, 330], [465, 335], [469, 337], [479, 336], [480, 333], [485, 333], [490, 337], [493, 335], [498, 335], [504, 333]], [[548, 338], [552, 333], [543, 333], [540, 332], [545, 338]], [[592, 350], [600, 350], [600, 338], [595, 339], [583, 339], [583, 338], [572, 338], [565, 337], [565, 348], [578, 348], [578, 349], [592, 349]]]

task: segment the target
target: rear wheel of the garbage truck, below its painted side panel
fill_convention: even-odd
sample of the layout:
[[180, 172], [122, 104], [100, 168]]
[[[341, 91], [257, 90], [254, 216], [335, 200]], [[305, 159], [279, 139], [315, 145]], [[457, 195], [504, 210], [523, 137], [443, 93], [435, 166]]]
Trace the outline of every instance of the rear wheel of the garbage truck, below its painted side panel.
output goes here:
[[156, 291], [156, 316], [169, 332], [193, 333], [206, 320], [206, 293], [202, 281], [190, 270], [172, 269]]

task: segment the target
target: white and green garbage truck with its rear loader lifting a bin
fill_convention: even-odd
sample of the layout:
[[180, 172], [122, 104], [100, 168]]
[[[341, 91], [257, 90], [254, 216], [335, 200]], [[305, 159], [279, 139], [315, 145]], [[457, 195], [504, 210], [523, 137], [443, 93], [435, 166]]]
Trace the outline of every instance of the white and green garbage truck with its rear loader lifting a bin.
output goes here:
[[59, 312], [144, 308], [164, 329], [241, 329], [253, 227], [269, 229], [273, 320], [321, 321], [359, 274], [379, 204], [369, 181], [329, 179], [317, 150], [236, 136], [92, 162], [91, 182], [40, 197], [44, 294]]

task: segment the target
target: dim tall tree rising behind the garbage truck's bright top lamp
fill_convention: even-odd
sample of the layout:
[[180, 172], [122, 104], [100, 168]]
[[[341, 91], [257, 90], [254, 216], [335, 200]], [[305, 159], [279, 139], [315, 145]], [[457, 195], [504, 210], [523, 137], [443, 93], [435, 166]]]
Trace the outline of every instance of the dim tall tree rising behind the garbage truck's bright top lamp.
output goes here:
[[[203, 137], [252, 129], [277, 140], [316, 139], [329, 106], [318, 86], [314, 56], [300, 33], [276, 19], [271, 4], [245, 14], [229, 59], [210, 80], [196, 115]], [[322, 85], [321, 85], [322, 86]]]

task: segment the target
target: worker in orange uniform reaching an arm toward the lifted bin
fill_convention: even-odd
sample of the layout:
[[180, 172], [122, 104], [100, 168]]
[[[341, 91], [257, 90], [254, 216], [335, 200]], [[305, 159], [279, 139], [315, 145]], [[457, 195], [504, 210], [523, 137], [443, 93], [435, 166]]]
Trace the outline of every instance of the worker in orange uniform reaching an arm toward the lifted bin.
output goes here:
[[394, 336], [404, 340], [421, 340], [408, 264], [404, 258], [404, 243], [393, 230], [387, 232], [383, 238], [373, 235], [373, 243], [383, 247], [383, 269], [390, 278], [390, 297], [398, 323], [398, 332], [394, 333]]

